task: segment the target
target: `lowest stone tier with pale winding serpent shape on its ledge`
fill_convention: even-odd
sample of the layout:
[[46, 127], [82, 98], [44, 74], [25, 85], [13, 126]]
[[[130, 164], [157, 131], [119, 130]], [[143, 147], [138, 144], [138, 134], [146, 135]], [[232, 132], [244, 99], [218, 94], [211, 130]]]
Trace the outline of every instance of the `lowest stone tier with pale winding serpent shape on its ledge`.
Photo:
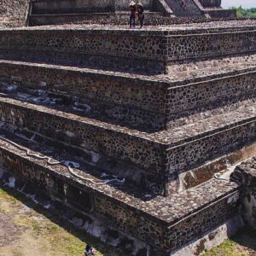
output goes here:
[[240, 187], [236, 183], [214, 178], [171, 198], [137, 193], [125, 183], [117, 185], [95, 177], [83, 166], [70, 169], [57, 163], [70, 159], [56, 150], [56, 154], [49, 154], [50, 149], [1, 130], [2, 182], [24, 193], [33, 184], [55, 200], [136, 236], [163, 255], [195, 239], [200, 242], [206, 234], [213, 235], [219, 225], [239, 212]]

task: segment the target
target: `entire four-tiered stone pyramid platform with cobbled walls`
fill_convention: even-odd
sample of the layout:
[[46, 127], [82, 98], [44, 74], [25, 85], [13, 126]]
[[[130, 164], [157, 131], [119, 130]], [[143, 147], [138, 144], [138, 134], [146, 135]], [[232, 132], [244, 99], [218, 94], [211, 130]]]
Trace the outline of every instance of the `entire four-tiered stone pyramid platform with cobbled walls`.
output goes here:
[[256, 152], [255, 38], [256, 20], [1, 30], [2, 182], [144, 253], [217, 245], [242, 225], [230, 174]]

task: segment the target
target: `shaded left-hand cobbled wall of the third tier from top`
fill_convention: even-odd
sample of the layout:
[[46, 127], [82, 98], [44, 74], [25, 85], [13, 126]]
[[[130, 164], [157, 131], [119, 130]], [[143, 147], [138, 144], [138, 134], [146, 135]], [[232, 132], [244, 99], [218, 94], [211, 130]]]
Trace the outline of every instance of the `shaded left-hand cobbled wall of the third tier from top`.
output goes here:
[[[80, 150], [92, 150], [102, 156], [107, 156], [114, 160], [124, 160], [127, 168], [134, 168], [134, 165], [148, 170], [145, 175], [152, 189], [160, 187], [164, 194], [163, 176], [160, 172], [161, 166], [165, 166], [164, 148], [159, 143], [143, 140], [138, 137], [131, 137], [129, 134], [104, 129], [102, 125], [93, 122], [85, 123], [77, 118], [74, 120], [72, 114], [64, 113], [52, 109], [51, 113], [34, 111], [32, 106], [22, 108], [18, 105], [0, 104], [1, 120], [9, 125], [15, 125], [21, 130], [37, 132], [43, 137], [54, 139], [70, 147], [80, 148]], [[41, 107], [41, 110], [43, 108]], [[103, 129], [102, 129], [103, 128]], [[157, 172], [157, 174], [156, 174]], [[155, 188], [154, 188], [155, 187]]]

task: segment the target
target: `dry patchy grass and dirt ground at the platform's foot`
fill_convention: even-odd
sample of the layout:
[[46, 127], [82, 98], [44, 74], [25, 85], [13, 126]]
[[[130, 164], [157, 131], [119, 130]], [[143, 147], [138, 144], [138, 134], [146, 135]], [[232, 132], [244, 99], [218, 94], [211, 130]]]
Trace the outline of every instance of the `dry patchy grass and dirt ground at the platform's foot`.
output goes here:
[[[83, 255], [86, 243], [96, 248], [97, 256], [124, 256], [102, 241], [74, 229], [20, 193], [0, 187], [1, 256], [77, 256]], [[256, 256], [256, 232], [245, 228], [232, 240], [202, 255]]]

